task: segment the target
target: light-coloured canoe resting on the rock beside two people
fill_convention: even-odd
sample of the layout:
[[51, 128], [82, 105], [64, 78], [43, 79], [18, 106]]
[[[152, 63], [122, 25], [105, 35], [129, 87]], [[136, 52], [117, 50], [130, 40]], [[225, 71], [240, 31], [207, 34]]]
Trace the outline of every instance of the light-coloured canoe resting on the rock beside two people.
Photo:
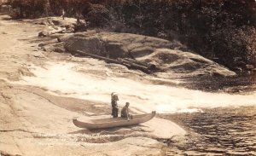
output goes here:
[[155, 111], [152, 113], [133, 115], [133, 118], [127, 120], [126, 118], [100, 118], [100, 119], [90, 119], [84, 120], [82, 118], [73, 118], [73, 124], [79, 128], [85, 129], [105, 129], [112, 127], [120, 127], [127, 125], [136, 125], [147, 122], [148, 120], [154, 118]]

